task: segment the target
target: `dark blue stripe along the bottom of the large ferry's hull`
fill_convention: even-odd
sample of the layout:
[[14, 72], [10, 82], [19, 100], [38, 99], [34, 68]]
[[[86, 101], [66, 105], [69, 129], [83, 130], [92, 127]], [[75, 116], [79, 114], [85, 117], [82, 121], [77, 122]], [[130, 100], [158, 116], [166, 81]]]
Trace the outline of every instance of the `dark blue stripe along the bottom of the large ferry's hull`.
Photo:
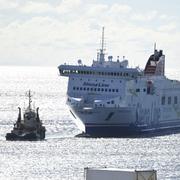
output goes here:
[[128, 137], [128, 136], [161, 136], [180, 132], [180, 124], [176, 126], [158, 126], [151, 128], [140, 128], [137, 126], [86, 126], [86, 134], [90, 137]]

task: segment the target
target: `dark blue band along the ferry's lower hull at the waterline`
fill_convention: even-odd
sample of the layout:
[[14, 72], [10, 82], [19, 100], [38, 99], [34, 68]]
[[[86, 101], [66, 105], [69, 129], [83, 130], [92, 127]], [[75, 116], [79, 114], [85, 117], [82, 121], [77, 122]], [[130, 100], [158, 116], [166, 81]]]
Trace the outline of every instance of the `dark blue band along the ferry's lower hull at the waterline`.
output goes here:
[[159, 135], [165, 134], [165, 131], [174, 132], [174, 130], [180, 130], [180, 122], [165, 123], [159, 125], [149, 126], [134, 126], [122, 124], [85, 124], [86, 133], [92, 137], [121, 137], [131, 135], [141, 135], [145, 133], [156, 133]]

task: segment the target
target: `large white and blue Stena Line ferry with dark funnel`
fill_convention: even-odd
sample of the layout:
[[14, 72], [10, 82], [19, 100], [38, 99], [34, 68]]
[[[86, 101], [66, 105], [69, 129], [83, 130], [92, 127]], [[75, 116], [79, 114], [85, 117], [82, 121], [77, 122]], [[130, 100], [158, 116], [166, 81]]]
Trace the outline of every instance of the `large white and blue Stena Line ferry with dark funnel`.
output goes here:
[[180, 129], [180, 82], [165, 76], [165, 55], [154, 48], [144, 70], [128, 60], [105, 60], [101, 49], [92, 66], [60, 65], [68, 80], [67, 105], [75, 123], [91, 137], [120, 137]]

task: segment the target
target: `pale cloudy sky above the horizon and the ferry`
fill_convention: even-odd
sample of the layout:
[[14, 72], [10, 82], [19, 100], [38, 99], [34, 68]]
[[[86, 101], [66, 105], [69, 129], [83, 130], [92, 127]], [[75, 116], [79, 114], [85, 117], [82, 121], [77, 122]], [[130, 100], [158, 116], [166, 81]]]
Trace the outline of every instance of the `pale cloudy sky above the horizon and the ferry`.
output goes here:
[[91, 65], [103, 26], [106, 57], [144, 68], [156, 42], [178, 68], [179, 0], [0, 0], [0, 65]]

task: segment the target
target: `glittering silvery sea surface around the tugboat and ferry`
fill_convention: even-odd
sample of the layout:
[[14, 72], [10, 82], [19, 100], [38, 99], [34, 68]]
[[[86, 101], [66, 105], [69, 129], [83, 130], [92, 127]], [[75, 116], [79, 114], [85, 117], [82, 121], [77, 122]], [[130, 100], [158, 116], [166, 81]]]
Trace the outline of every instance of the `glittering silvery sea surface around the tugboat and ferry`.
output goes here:
[[[180, 79], [169, 70], [168, 77]], [[75, 138], [80, 131], [66, 102], [67, 79], [56, 67], [0, 67], [0, 180], [83, 180], [84, 167], [155, 169], [158, 180], [180, 180], [180, 134], [152, 138]], [[7, 142], [25, 92], [46, 126], [46, 140]]]

